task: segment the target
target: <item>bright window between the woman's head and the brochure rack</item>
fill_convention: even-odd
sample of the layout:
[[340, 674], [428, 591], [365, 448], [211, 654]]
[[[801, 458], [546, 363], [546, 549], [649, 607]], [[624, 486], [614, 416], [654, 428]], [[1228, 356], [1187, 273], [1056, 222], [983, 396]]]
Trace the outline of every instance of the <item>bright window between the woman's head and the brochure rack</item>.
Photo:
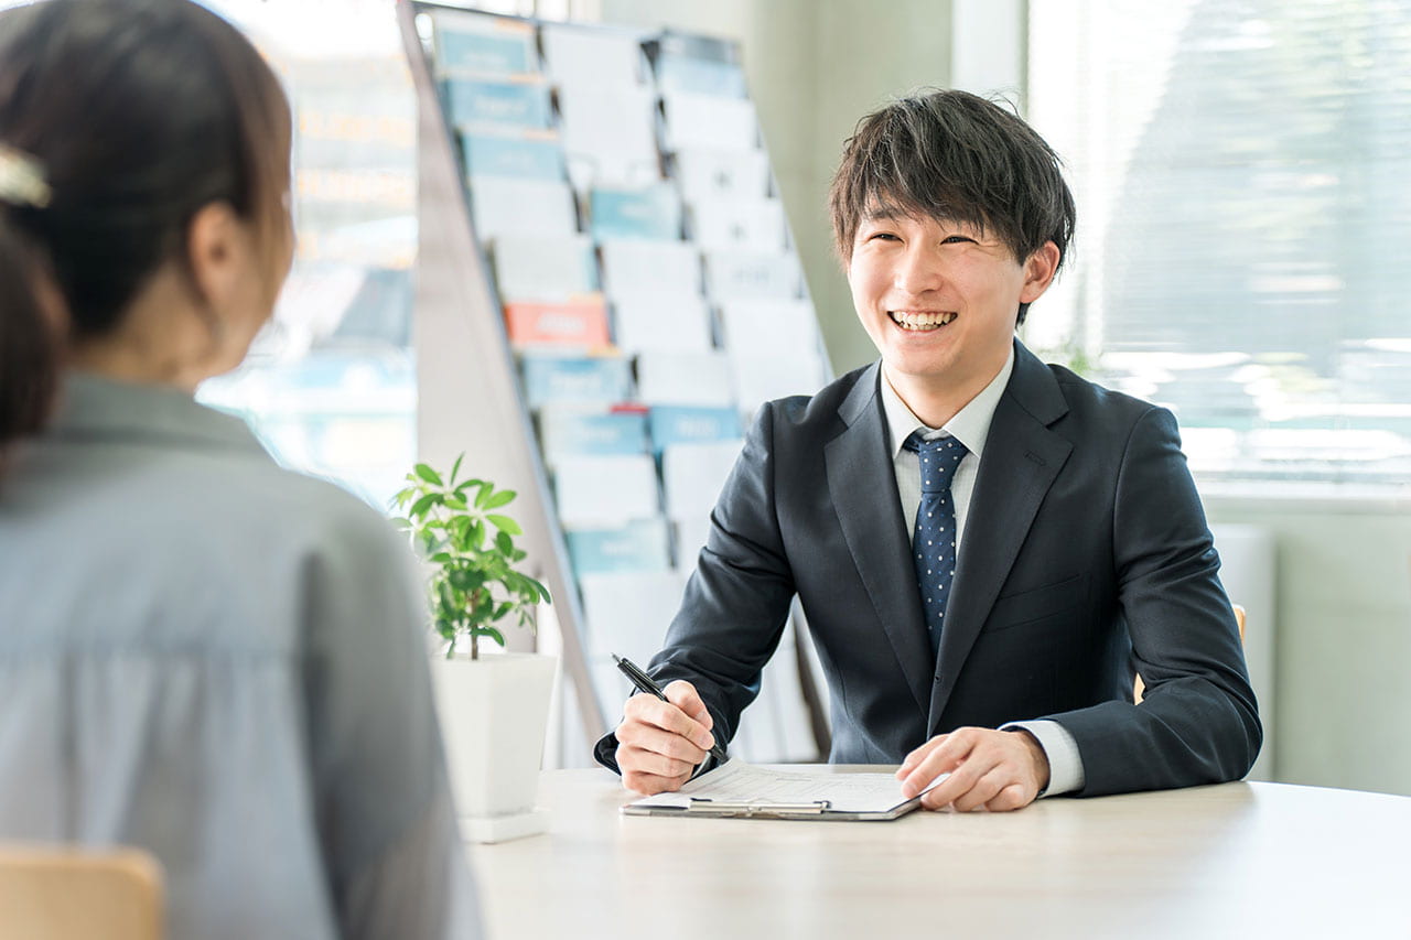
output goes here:
[[205, 3], [291, 96], [298, 248], [246, 364], [198, 397], [247, 418], [282, 464], [385, 510], [416, 450], [416, 100], [395, 6]]

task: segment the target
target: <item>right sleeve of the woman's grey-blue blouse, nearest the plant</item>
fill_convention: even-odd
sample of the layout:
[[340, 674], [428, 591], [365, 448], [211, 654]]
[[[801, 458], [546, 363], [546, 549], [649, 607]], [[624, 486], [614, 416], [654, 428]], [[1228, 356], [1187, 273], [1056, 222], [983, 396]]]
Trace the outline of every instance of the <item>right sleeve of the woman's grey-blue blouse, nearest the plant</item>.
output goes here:
[[413, 560], [361, 504], [302, 572], [308, 749], [329, 892], [346, 937], [477, 937], [432, 701]]

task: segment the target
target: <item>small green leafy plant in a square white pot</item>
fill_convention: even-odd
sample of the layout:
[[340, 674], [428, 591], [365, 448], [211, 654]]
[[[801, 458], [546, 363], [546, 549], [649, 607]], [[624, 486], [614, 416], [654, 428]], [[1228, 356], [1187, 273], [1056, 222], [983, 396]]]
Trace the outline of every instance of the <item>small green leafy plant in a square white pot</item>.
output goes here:
[[518, 569], [525, 552], [515, 536], [523, 532], [502, 512], [515, 493], [488, 480], [459, 480], [464, 456], [444, 477], [418, 463], [394, 504], [405, 512], [396, 524], [429, 567], [432, 627], [444, 646], [432, 679], [461, 828], [473, 841], [492, 843], [546, 824], [533, 803], [555, 661], [514, 652], [481, 656], [480, 641], [502, 648], [502, 624], [532, 631], [536, 605], [550, 598]]

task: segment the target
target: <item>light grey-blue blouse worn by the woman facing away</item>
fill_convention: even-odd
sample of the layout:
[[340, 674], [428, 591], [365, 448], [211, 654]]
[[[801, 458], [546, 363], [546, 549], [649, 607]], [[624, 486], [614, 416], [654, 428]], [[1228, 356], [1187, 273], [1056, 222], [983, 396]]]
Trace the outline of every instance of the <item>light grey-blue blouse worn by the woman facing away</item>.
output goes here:
[[0, 471], [0, 840], [147, 847], [174, 939], [478, 936], [423, 617], [375, 511], [71, 375]]

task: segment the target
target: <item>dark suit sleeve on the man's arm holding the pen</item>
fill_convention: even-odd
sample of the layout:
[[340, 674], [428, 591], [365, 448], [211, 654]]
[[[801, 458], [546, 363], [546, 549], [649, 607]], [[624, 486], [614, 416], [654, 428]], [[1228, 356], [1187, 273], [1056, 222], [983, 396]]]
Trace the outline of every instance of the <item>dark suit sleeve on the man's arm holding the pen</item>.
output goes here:
[[[775, 408], [759, 411], [745, 447], [711, 512], [710, 536], [686, 584], [666, 644], [648, 672], [662, 686], [684, 679], [696, 686], [728, 742], [739, 714], [759, 694], [765, 663], [779, 645], [794, 596], [775, 512]], [[617, 737], [594, 747], [600, 764], [617, 771]]]

